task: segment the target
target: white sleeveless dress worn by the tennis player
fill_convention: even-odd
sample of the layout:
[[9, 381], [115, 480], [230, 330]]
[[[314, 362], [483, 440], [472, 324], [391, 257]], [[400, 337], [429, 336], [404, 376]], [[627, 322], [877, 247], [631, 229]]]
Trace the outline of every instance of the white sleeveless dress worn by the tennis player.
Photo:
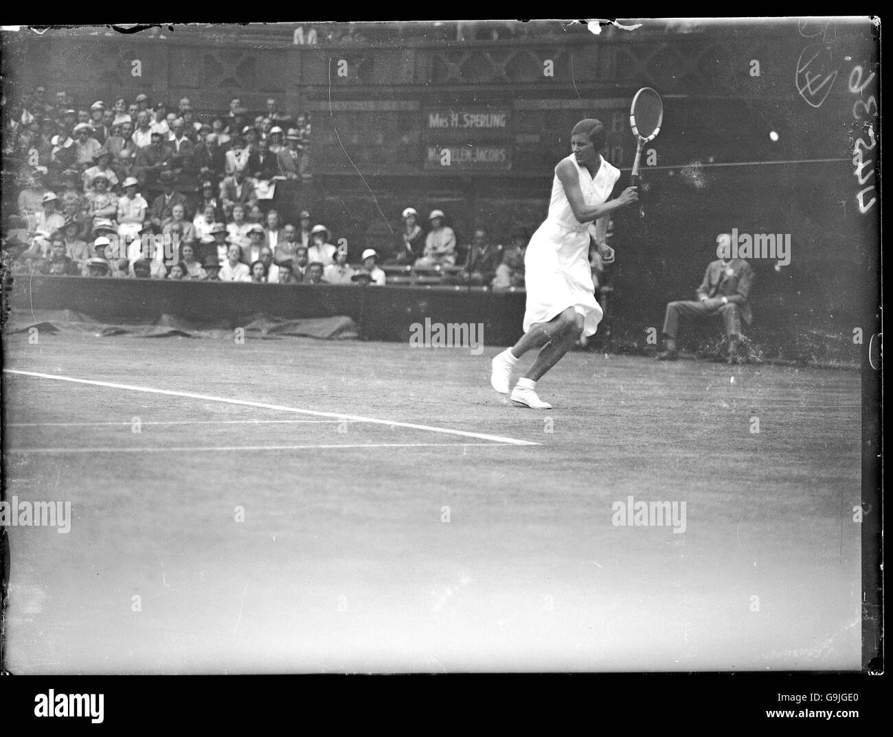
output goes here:
[[[604, 204], [620, 178], [620, 170], [602, 158], [602, 165], [592, 178], [573, 154], [564, 161], [571, 161], [576, 168], [584, 201], [588, 205]], [[548, 322], [572, 307], [583, 316], [584, 335], [595, 335], [603, 314], [596, 302], [596, 287], [589, 267], [590, 225], [579, 223], [573, 217], [564, 186], [555, 174], [548, 217], [530, 238], [524, 256], [525, 333], [530, 326]]]

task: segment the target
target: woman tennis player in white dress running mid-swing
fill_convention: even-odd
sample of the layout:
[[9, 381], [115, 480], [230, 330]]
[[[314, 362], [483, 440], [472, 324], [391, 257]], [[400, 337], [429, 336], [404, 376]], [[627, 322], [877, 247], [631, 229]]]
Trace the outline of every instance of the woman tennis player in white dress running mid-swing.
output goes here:
[[493, 388], [508, 394], [518, 359], [539, 349], [533, 365], [512, 390], [510, 399], [516, 405], [552, 409], [536, 393], [538, 379], [562, 359], [580, 335], [595, 335], [602, 319], [589, 267], [589, 238], [595, 238], [599, 252], [605, 255], [609, 251], [605, 216], [638, 200], [636, 187], [630, 186], [608, 201], [620, 171], [602, 158], [604, 148], [601, 122], [588, 118], [574, 126], [572, 153], [555, 167], [548, 217], [527, 247], [524, 335], [493, 359], [490, 376]]

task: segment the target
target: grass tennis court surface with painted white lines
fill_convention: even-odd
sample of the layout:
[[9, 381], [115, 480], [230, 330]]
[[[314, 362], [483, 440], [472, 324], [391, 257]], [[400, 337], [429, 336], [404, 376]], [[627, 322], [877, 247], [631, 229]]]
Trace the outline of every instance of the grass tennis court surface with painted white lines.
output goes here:
[[497, 350], [7, 335], [94, 382], [3, 376], [6, 499], [71, 501], [7, 528], [8, 667], [860, 667], [855, 370], [574, 352], [536, 412]]

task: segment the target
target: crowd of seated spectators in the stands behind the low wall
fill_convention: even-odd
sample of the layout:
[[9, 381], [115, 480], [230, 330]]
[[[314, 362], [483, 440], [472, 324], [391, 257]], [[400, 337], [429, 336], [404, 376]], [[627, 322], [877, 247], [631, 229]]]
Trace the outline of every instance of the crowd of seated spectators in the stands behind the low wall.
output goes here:
[[308, 211], [284, 221], [278, 203], [296, 203], [309, 178], [311, 123], [275, 99], [254, 118], [235, 99], [226, 115], [196, 120], [188, 98], [174, 107], [140, 94], [79, 110], [66, 92], [49, 99], [38, 87], [10, 111], [4, 172], [16, 186], [14, 205], [4, 187], [14, 212], [3, 262], [13, 274], [380, 286], [408, 267], [451, 284], [523, 286], [522, 229], [504, 247], [478, 228], [459, 247], [443, 211], [422, 228], [407, 207], [380, 269], [369, 248], [348, 264], [346, 246]]

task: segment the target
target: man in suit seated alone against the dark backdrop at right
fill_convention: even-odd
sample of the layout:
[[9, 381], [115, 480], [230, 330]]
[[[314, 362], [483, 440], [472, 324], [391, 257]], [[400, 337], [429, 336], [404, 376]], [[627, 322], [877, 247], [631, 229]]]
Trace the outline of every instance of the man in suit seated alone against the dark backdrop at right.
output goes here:
[[[716, 236], [718, 251], [730, 253], [731, 236], [723, 233]], [[678, 357], [676, 337], [679, 335], [679, 321], [682, 315], [688, 317], [722, 317], [725, 332], [729, 338], [727, 360], [739, 360], [738, 342], [741, 319], [750, 325], [753, 314], [750, 311], [750, 289], [754, 284], [754, 269], [744, 259], [717, 259], [707, 266], [704, 281], [697, 287], [697, 302], [670, 302], [663, 320], [663, 335], [666, 350], [657, 354], [660, 360], [675, 360]]]

